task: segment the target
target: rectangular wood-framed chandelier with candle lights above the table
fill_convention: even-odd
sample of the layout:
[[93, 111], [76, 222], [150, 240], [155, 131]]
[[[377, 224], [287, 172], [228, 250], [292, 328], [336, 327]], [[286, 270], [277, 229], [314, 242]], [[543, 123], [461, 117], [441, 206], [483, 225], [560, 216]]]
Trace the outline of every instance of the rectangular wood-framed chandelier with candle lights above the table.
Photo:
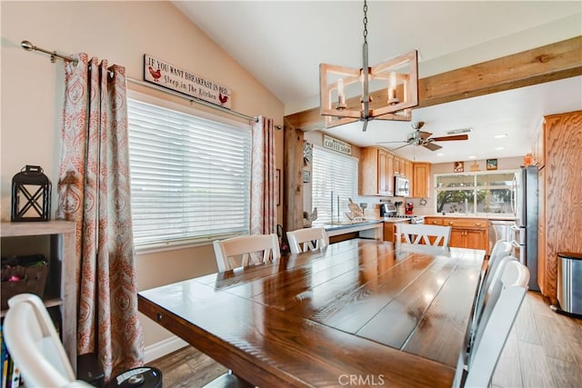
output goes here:
[[411, 121], [410, 108], [418, 105], [418, 54], [413, 50], [360, 69], [320, 64], [319, 82], [326, 128], [373, 119]]

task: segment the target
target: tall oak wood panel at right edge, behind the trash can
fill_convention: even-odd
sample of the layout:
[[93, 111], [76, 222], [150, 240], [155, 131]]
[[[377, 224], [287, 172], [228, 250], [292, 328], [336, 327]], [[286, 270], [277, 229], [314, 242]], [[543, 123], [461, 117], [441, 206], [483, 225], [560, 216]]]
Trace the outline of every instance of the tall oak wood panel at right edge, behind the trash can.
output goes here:
[[557, 253], [582, 253], [582, 111], [546, 116], [545, 295], [557, 302]]

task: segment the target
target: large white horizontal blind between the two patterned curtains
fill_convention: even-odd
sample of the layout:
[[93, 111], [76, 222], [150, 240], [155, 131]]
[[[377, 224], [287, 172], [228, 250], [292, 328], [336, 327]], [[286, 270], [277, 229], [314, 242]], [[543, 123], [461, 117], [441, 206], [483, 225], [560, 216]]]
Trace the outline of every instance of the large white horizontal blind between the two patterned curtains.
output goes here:
[[250, 128], [128, 99], [137, 247], [248, 234]]

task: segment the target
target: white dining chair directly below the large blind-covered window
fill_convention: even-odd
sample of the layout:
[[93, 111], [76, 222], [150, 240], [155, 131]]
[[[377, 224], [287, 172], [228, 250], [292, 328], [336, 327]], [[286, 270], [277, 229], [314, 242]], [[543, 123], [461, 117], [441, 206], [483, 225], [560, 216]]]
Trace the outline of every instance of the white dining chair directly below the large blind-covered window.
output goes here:
[[[275, 261], [281, 257], [276, 234], [252, 234], [213, 242], [219, 272], [249, 264]], [[262, 260], [257, 257], [262, 255]]]

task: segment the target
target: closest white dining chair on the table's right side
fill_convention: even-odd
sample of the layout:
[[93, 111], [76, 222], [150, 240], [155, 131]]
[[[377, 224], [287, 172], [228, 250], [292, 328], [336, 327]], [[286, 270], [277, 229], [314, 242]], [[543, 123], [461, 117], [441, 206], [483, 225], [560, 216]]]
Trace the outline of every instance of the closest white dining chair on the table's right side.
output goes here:
[[517, 260], [504, 263], [500, 286], [490, 295], [477, 326], [475, 343], [461, 353], [454, 387], [487, 387], [495, 372], [507, 336], [527, 293], [529, 270]]

